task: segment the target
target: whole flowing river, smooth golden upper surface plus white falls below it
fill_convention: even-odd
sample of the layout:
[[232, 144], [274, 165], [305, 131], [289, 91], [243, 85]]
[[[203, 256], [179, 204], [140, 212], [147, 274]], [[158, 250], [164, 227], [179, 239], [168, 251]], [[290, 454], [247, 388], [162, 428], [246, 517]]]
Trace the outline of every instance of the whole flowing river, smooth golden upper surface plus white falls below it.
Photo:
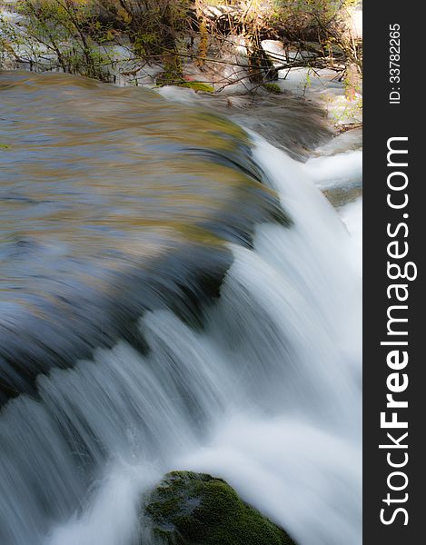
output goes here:
[[5, 73], [0, 105], [1, 545], [150, 544], [185, 469], [361, 543], [360, 275], [309, 164], [143, 89]]

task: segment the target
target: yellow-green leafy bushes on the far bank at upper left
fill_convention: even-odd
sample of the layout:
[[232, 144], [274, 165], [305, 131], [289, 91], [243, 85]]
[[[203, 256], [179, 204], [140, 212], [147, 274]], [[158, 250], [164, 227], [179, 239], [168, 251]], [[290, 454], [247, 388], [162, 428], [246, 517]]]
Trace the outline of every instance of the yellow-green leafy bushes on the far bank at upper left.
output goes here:
[[131, 42], [129, 58], [163, 61], [175, 79], [182, 77], [178, 44], [188, 30], [190, 6], [191, 0], [18, 0], [25, 34], [1, 22], [2, 49], [7, 45], [12, 56], [31, 65], [104, 80], [112, 63], [102, 45], [123, 38]]

